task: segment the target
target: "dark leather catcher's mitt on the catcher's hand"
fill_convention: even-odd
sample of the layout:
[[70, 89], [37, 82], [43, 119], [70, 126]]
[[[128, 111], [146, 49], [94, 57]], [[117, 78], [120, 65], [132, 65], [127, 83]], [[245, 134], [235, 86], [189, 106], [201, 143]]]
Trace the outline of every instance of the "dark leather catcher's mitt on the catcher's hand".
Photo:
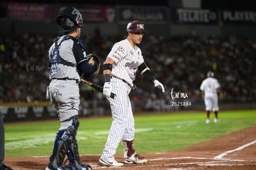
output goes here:
[[90, 80], [95, 78], [99, 72], [100, 72], [100, 59], [98, 56], [96, 56], [95, 54], [91, 53], [87, 55], [87, 59], [88, 61], [93, 57], [93, 61], [95, 62], [94, 66], [93, 66], [93, 70], [90, 74], [83, 74], [81, 76], [82, 79], [85, 80]]

